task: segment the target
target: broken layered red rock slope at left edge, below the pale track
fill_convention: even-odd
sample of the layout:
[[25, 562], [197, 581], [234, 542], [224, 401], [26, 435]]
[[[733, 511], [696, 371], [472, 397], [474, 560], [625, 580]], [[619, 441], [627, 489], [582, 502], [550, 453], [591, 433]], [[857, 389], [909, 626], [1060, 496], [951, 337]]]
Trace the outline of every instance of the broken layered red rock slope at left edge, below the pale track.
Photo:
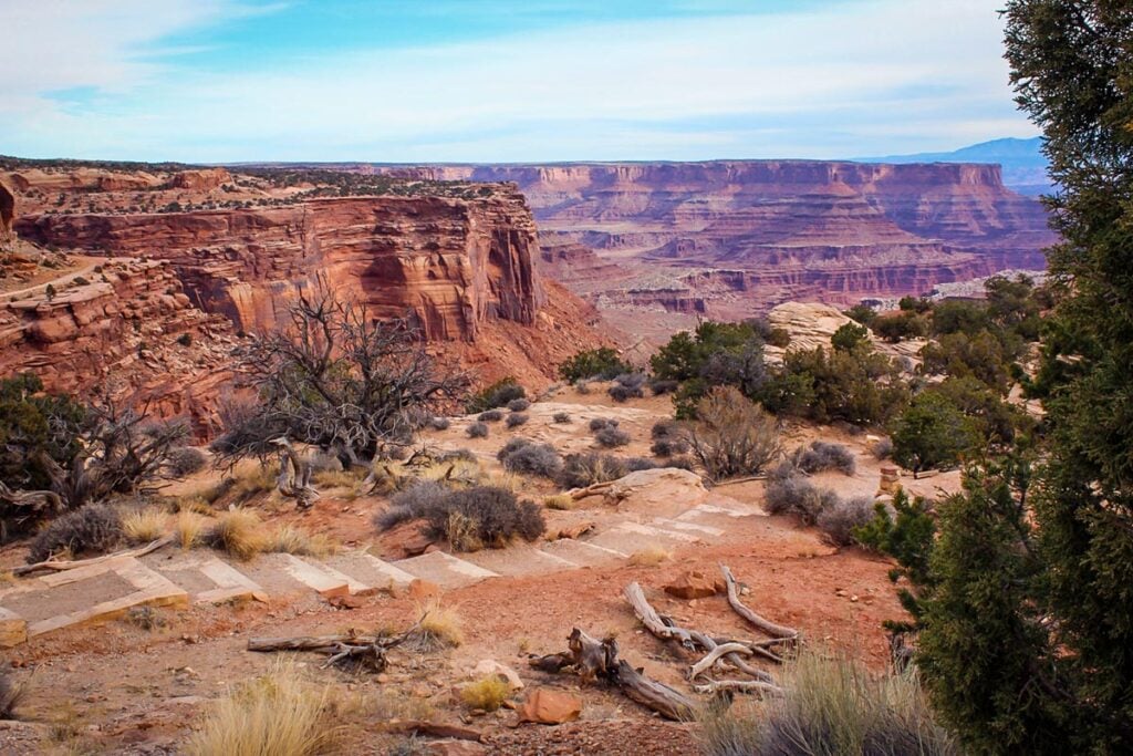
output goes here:
[[49, 391], [148, 402], [152, 416], [211, 434], [236, 339], [224, 318], [193, 306], [169, 263], [108, 260], [51, 287], [0, 303], [0, 375], [33, 372]]

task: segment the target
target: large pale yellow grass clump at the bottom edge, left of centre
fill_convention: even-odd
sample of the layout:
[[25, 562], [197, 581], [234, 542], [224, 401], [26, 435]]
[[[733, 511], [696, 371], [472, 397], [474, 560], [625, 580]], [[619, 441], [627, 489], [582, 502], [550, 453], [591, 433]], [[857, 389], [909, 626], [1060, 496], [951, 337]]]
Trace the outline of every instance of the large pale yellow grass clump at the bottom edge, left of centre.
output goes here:
[[232, 688], [188, 744], [194, 756], [313, 756], [334, 748], [341, 729], [329, 686], [292, 666]]

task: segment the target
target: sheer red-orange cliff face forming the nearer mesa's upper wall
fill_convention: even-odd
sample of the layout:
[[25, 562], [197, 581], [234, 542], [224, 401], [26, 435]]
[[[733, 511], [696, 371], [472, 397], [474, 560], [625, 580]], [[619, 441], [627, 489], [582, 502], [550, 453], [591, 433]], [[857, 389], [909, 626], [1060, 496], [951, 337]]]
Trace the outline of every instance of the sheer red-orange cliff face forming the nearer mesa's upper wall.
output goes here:
[[40, 244], [169, 260], [190, 298], [238, 330], [273, 328], [303, 292], [334, 291], [376, 317], [410, 314], [432, 340], [487, 322], [531, 325], [545, 294], [535, 223], [518, 192], [489, 197], [315, 199], [264, 210], [40, 215]]

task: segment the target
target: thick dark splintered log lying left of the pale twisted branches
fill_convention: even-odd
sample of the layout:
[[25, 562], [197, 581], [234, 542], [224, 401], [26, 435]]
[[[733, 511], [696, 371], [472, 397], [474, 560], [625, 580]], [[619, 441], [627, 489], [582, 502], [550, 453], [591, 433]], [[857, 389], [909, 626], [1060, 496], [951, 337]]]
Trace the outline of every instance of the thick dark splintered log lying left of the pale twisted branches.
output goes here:
[[624, 659], [617, 659], [617, 642], [598, 640], [579, 628], [571, 630], [568, 651], [547, 656], [536, 656], [529, 664], [544, 671], [574, 668], [585, 681], [603, 680], [616, 686], [628, 698], [665, 719], [689, 721], [695, 717], [695, 702], [675, 688], [658, 682]]

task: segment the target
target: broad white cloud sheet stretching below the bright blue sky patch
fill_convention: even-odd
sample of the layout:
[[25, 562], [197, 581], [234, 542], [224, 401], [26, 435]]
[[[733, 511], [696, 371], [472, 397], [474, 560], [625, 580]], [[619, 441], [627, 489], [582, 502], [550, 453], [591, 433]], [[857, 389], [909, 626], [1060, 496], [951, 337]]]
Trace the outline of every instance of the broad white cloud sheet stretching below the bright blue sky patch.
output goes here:
[[[68, 45], [59, 59], [34, 40], [0, 52], [27, 75], [0, 105], [17, 143], [201, 161], [612, 160], [880, 154], [1033, 133], [1014, 113], [986, 0], [594, 24], [223, 75], [157, 68], [136, 50], [232, 6], [145, 5], [84, 3], [52, 32]], [[19, 3], [24, 24], [50, 24], [35, 7]], [[113, 103], [78, 116], [41, 96], [75, 86]]]

